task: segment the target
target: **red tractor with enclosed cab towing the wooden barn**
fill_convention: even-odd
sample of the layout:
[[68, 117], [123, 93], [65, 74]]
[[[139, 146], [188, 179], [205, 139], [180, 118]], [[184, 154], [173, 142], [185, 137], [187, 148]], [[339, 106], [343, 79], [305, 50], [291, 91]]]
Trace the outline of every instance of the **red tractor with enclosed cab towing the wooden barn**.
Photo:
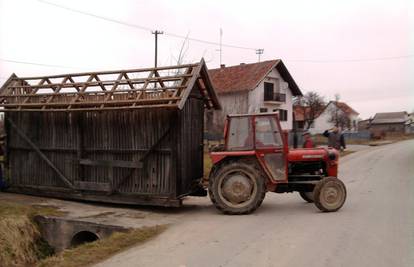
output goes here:
[[277, 114], [229, 115], [221, 151], [211, 152], [211, 201], [226, 214], [256, 210], [266, 192], [297, 191], [322, 211], [339, 210], [346, 188], [333, 148], [289, 150]]

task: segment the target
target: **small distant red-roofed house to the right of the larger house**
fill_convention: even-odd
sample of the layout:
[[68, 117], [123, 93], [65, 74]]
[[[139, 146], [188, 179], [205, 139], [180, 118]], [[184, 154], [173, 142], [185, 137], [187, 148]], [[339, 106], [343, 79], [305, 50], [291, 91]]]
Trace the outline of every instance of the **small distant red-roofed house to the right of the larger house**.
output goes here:
[[[303, 109], [295, 108], [295, 120], [300, 125], [300, 119], [304, 118]], [[343, 131], [358, 131], [359, 113], [351, 108], [347, 103], [340, 101], [329, 101], [325, 108], [316, 116], [314, 122], [309, 128], [311, 134], [320, 134], [334, 126], [339, 126]], [[344, 118], [338, 122], [335, 118]], [[339, 124], [339, 125], [338, 125]], [[306, 128], [306, 125], [304, 125]]]

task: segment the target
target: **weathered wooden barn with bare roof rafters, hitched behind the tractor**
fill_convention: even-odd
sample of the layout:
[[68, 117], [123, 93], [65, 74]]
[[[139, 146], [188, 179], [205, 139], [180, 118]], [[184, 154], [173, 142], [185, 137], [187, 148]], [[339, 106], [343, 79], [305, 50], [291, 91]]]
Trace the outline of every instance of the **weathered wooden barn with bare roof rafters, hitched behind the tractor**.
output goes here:
[[[37, 77], [41, 82], [36, 86], [28, 86], [33, 77], [10, 79], [0, 90], [10, 190], [180, 205], [203, 175], [204, 109], [220, 107], [204, 62], [184, 66], [177, 79], [171, 73], [165, 76], [178, 82], [174, 86], [158, 73], [165, 68], [146, 69], [147, 78], [135, 80], [130, 71], [110, 72], [118, 77], [109, 83], [111, 89], [103, 89], [108, 84], [101, 73], [88, 73], [84, 83], [74, 80], [84, 74]], [[62, 83], [53, 78], [63, 78]], [[154, 80], [158, 85], [150, 89]], [[95, 98], [96, 92], [86, 91], [92, 82], [101, 90]], [[118, 90], [122, 83], [129, 89]], [[62, 92], [69, 84], [77, 90], [70, 96]], [[44, 95], [44, 87], [54, 92]], [[170, 92], [171, 87], [176, 91]], [[142, 101], [149, 95], [154, 101]]]

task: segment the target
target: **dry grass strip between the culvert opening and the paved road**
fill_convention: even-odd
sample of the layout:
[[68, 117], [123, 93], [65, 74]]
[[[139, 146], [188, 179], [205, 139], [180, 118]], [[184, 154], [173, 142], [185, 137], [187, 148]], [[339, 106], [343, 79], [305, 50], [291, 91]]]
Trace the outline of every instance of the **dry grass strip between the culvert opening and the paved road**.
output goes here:
[[107, 239], [67, 249], [62, 253], [42, 260], [38, 267], [78, 267], [90, 266], [108, 259], [114, 254], [143, 243], [160, 234], [166, 229], [165, 225], [144, 227], [127, 233], [114, 233]]

